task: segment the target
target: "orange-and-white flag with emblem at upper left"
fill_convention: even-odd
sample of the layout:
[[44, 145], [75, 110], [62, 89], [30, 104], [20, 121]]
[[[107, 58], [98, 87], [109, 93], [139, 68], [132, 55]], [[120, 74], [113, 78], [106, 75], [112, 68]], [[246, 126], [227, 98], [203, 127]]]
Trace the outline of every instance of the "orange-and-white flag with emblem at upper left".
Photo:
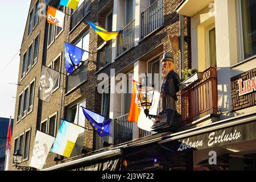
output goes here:
[[49, 6], [47, 10], [47, 22], [63, 28], [65, 13]]

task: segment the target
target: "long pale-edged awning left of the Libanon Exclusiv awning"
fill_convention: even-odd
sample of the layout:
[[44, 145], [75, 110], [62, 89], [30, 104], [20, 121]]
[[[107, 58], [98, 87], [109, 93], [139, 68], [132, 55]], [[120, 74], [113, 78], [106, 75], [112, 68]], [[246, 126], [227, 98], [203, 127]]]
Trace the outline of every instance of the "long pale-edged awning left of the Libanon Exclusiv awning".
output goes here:
[[[72, 168], [75, 169], [77, 166], [82, 166], [82, 165], [84, 165], [88, 169], [90, 167], [92, 169], [93, 169], [93, 167], [94, 167], [94, 169], [96, 169], [96, 166], [93, 166], [93, 165], [88, 166], [88, 165], [86, 165], [86, 163], [90, 163], [93, 160], [101, 160], [101, 159], [106, 159], [106, 158], [112, 158], [114, 156], [121, 155], [121, 154], [122, 154], [121, 149], [108, 150], [108, 151], [104, 151], [104, 152], [99, 152], [98, 154], [86, 156], [86, 157], [81, 158], [81, 159], [76, 159], [76, 160], [72, 160], [70, 162], [57, 164], [56, 166], [52, 166], [52, 167], [49, 167], [49, 168], [46, 168], [46, 169], [42, 169], [42, 171], [56, 171], [56, 170], [65, 170], [65, 169], [72, 169]], [[115, 164], [116, 161], [114, 159], [113, 162], [109, 162], [109, 163]], [[108, 164], [108, 161], [106, 161], [106, 163], [102, 163], [103, 166], [108, 166], [107, 164]], [[86, 170], [86, 168], [85, 168], [85, 170]]]

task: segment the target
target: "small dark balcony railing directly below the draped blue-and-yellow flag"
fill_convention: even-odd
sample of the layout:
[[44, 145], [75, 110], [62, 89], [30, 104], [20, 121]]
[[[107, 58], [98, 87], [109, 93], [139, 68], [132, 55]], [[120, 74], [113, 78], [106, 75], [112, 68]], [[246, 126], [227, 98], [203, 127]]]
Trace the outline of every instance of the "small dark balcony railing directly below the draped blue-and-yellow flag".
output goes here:
[[112, 42], [107, 42], [98, 52], [97, 52], [97, 69], [99, 70], [105, 65], [111, 63], [112, 61]]

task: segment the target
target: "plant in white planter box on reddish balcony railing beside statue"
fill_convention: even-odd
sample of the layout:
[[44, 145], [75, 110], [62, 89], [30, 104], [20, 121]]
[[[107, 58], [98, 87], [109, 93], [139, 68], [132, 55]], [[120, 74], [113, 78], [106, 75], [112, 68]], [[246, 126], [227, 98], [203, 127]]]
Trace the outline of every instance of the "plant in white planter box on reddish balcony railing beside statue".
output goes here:
[[182, 70], [183, 78], [179, 85], [180, 90], [188, 89], [196, 82], [203, 79], [203, 72], [198, 72], [196, 68]]

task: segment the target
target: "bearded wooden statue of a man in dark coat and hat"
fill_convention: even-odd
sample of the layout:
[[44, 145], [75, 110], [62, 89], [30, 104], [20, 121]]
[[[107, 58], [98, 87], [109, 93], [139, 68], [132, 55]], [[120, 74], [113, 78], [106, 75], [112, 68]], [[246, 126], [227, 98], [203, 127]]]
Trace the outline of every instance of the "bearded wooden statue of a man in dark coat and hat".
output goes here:
[[[171, 123], [176, 111], [176, 93], [179, 92], [180, 77], [174, 72], [174, 58], [170, 52], [165, 52], [162, 63], [162, 111], [159, 113], [160, 122]], [[166, 117], [161, 117], [166, 115]]]

